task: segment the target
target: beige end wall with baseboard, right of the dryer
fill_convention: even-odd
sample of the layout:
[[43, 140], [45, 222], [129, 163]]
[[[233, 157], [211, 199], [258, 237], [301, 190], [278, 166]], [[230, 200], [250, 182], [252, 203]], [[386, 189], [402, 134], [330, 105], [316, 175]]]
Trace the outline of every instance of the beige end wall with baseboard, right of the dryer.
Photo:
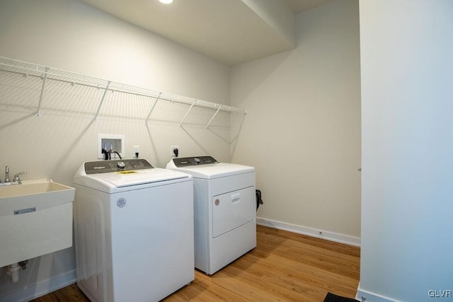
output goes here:
[[297, 16], [294, 51], [232, 68], [232, 160], [256, 167], [261, 222], [360, 243], [359, 47], [358, 1], [339, 0]]

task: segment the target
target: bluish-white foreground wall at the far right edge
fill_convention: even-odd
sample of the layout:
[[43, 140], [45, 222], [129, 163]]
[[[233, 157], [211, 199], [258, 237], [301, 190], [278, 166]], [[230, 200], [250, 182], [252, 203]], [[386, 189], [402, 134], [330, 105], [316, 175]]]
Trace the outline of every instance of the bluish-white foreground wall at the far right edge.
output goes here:
[[452, 16], [450, 0], [360, 1], [366, 301], [452, 300]]

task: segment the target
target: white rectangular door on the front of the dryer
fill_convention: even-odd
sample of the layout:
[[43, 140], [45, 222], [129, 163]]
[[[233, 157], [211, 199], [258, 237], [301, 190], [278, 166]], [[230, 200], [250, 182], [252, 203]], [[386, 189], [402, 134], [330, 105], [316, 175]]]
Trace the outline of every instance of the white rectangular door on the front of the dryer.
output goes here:
[[212, 197], [212, 236], [216, 238], [255, 219], [255, 187]]

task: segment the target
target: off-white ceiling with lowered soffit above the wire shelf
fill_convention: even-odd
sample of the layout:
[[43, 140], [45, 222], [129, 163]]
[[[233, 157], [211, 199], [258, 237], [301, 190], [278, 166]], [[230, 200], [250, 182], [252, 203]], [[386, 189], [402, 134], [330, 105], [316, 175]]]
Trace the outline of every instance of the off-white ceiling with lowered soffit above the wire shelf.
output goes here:
[[295, 16], [334, 0], [79, 0], [229, 66], [294, 49]]

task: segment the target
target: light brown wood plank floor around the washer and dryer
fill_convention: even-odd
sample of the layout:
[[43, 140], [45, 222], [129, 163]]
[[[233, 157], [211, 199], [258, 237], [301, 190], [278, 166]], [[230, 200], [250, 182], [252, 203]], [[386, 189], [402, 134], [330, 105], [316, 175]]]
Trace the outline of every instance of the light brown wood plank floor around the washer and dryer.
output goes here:
[[[173, 301], [322, 302], [327, 292], [355, 298], [360, 248], [257, 226], [257, 247], [212, 276], [164, 299]], [[75, 284], [34, 302], [88, 301]]]

